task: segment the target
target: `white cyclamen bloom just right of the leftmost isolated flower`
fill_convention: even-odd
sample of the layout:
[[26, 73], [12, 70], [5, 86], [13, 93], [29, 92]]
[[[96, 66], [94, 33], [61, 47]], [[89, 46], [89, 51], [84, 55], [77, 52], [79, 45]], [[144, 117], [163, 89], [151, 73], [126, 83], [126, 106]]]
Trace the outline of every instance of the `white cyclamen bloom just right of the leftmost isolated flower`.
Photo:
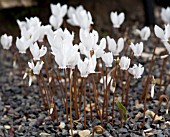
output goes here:
[[19, 53], [26, 53], [26, 50], [29, 48], [30, 43], [31, 42], [26, 40], [25, 37], [21, 37], [20, 39], [17, 37], [16, 47], [18, 48]]

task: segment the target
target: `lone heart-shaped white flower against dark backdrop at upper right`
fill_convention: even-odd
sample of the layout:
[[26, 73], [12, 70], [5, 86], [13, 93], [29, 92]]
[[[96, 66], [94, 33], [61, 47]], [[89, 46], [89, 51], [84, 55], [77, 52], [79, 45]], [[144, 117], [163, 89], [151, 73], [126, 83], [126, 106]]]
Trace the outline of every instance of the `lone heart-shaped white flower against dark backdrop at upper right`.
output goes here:
[[110, 13], [110, 19], [113, 23], [114, 28], [120, 28], [120, 25], [124, 22], [125, 20], [125, 14], [121, 12], [119, 15], [117, 12], [111, 12]]

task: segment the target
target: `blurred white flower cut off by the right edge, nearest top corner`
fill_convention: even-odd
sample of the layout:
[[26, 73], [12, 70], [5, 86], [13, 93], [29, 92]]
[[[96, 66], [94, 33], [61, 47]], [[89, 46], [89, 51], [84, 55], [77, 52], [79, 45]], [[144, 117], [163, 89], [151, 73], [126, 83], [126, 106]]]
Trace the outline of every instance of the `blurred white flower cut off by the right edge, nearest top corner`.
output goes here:
[[170, 7], [161, 9], [161, 18], [165, 24], [170, 23]]

